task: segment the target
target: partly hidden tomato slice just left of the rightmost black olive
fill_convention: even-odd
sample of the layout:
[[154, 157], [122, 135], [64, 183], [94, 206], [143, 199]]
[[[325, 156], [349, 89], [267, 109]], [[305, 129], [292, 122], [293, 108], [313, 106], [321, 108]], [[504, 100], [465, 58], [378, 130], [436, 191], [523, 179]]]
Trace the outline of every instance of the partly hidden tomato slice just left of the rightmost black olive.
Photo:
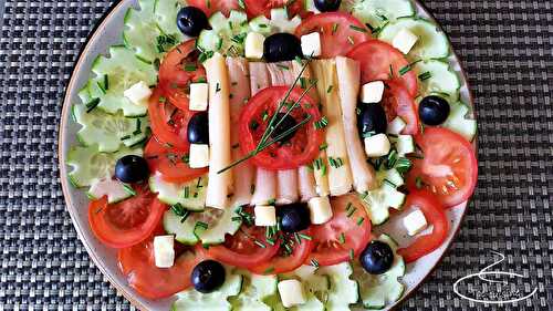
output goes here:
[[406, 126], [401, 134], [415, 135], [419, 131], [417, 104], [407, 89], [398, 81], [386, 81], [386, 89], [380, 104], [386, 112], [386, 118], [392, 122], [397, 115], [400, 116]]

